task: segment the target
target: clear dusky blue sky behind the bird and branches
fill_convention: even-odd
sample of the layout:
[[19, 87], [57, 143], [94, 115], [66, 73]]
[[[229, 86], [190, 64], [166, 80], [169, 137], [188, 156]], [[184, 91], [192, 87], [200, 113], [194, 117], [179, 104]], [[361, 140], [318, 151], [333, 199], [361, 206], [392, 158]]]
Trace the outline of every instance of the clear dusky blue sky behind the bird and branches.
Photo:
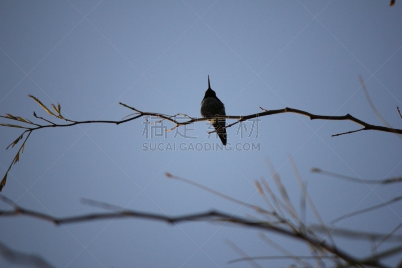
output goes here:
[[[402, 128], [396, 110], [402, 107], [401, 15], [399, 1], [392, 8], [388, 1], [2, 1], [0, 114], [44, 123], [33, 117], [35, 111], [63, 123], [27, 97], [31, 94], [49, 107], [60, 102], [62, 114], [76, 121], [120, 120], [132, 113], [119, 102], [147, 112], [199, 117], [210, 75], [227, 115], [291, 107], [320, 115], [349, 113], [381, 125], [365, 99], [361, 75], [382, 117]], [[205, 122], [190, 126], [188, 134], [196, 139], [175, 136], [175, 131], [147, 138], [143, 119], [35, 131], [2, 194], [56, 217], [105, 211], [82, 204], [81, 198], [172, 216], [218, 209], [256, 217], [261, 215], [171, 180], [165, 172], [267, 208], [254, 182], [264, 177], [276, 189], [266, 165], [270, 159], [298, 210], [301, 194], [291, 156], [329, 225], [400, 195], [400, 185], [354, 184], [311, 172], [320, 167], [369, 180], [400, 176], [400, 137], [379, 131], [331, 137], [360, 126], [296, 114], [260, 119], [258, 136], [241, 136], [237, 125], [227, 130], [230, 148], [259, 144], [254, 151], [143, 150], [144, 143], [219, 143], [216, 134], [208, 138]], [[250, 131], [251, 122], [246, 126]], [[20, 133], [0, 128], [2, 177], [18, 150], [6, 147]], [[401, 220], [396, 203], [333, 227], [388, 233]], [[310, 212], [307, 222], [317, 223]], [[302, 243], [265, 235], [294, 254], [309, 253]], [[281, 254], [261, 239], [260, 231], [232, 224], [118, 219], [55, 226], [24, 216], [0, 218], [0, 242], [56, 267], [249, 265], [227, 263], [240, 257], [228, 241], [250, 256]], [[370, 253], [368, 242], [336, 241], [356, 256]], [[400, 258], [389, 258], [388, 264]], [[13, 265], [0, 258], [0, 266]]]

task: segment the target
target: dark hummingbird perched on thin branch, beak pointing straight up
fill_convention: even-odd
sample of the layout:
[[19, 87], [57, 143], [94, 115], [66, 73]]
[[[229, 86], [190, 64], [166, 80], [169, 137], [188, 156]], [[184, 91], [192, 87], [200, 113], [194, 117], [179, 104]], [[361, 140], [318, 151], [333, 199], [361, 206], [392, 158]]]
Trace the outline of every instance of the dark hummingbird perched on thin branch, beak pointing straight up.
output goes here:
[[[204, 99], [201, 103], [201, 115], [206, 118], [215, 116], [225, 116], [225, 105], [218, 99], [215, 91], [212, 90], [210, 84], [210, 76], [208, 75], [208, 90], [205, 92]], [[226, 145], [226, 119], [211, 118], [208, 121], [214, 126], [216, 132], [221, 139], [223, 145]]]

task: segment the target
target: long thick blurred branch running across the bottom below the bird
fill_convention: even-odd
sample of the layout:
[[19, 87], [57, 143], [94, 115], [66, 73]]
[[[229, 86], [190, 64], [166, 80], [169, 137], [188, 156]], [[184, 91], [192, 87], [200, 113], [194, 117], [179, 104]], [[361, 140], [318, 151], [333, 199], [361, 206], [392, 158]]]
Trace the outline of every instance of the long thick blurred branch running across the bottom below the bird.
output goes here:
[[187, 214], [182, 216], [166, 216], [163, 214], [156, 213], [148, 213], [148, 212], [140, 212], [133, 210], [120, 210], [116, 212], [109, 213], [92, 213], [85, 214], [80, 216], [72, 216], [72, 217], [54, 217], [49, 214], [33, 211], [30, 209], [22, 208], [15, 204], [10, 199], [5, 196], [0, 196], [0, 198], [12, 205], [14, 210], [1, 210], [0, 217], [15, 217], [15, 216], [29, 216], [41, 220], [46, 220], [52, 222], [56, 225], [62, 224], [71, 224], [71, 223], [81, 223], [81, 222], [89, 222], [93, 220], [105, 220], [105, 219], [117, 219], [117, 218], [140, 218], [140, 219], [148, 219], [155, 221], [163, 221], [170, 224], [178, 224], [182, 222], [188, 221], [209, 221], [209, 222], [221, 222], [221, 223], [233, 223], [236, 225], [242, 225], [251, 228], [257, 228], [264, 231], [271, 231], [280, 235], [288, 236], [297, 240], [302, 240], [313, 246], [314, 248], [320, 248], [325, 250], [329, 254], [325, 256], [326, 258], [340, 258], [345, 261], [348, 265], [367, 265], [373, 267], [386, 267], [385, 265], [379, 262], [380, 258], [383, 256], [393, 255], [402, 251], [402, 247], [395, 247], [391, 250], [386, 250], [381, 253], [377, 253], [375, 256], [370, 256], [367, 258], [359, 259], [355, 258], [347, 252], [341, 250], [340, 248], [326, 242], [324, 239], [318, 239], [311, 233], [295, 230], [295, 229], [287, 229], [277, 224], [272, 224], [268, 221], [257, 221], [250, 220], [247, 218], [235, 216], [233, 214], [228, 214], [220, 211], [208, 211], [194, 214]]

